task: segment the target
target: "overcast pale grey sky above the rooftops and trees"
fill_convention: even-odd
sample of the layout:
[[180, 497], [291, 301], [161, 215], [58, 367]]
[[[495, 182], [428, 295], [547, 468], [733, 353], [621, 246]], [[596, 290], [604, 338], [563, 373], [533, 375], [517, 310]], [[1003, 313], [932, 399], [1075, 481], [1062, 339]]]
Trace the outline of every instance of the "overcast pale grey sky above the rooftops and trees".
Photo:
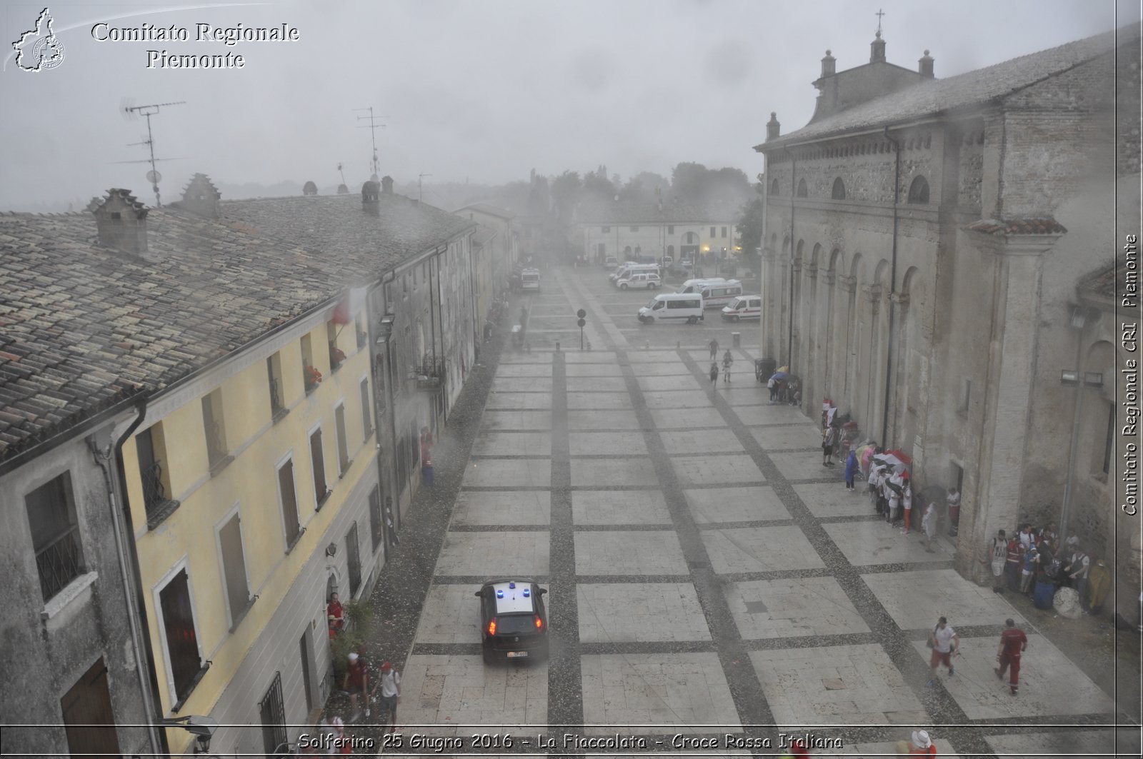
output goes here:
[[[629, 177], [679, 161], [762, 168], [751, 150], [776, 111], [806, 123], [826, 48], [866, 63], [882, 21], [887, 57], [926, 48], [948, 77], [1109, 31], [1117, 0], [312, 0], [259, 5], [51, 2], [61, 65], [0, 73], [0, 209], [89, 199], [107, 187], [154, 202], [146, 123], [121, 105], [186, 101], [152, 118], [165, 199], [194, 171], [219, 182], [313, 179], [355, 191], [369, 174], [373, 105], [382, 174], [399, 182], [502, 183], [606, 163]], [[40, 3], [6, 1], [5, 53]], [[169, 10], [162, 10], [169, 8]], [[1119, 2], [1119, 25], [1138, 2]], [[115, 42], [91, 26], [187, 27], [191, 41]], [[195, 24], [298, 30], [293, 42], [193, 41]], [[239, 54], [232, 70], [147, 69], [147, 50]], [[362, 122], [363, 123], [363, 122]]]

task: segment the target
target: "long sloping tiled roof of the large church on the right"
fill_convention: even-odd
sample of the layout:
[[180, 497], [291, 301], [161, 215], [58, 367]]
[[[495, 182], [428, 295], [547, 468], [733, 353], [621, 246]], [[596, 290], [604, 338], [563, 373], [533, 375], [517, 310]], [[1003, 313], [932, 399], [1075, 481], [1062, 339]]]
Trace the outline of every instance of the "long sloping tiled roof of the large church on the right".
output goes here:
[[807, 139], [908, 122], [986, 103], [1109, 53], [1117, 45], [1137, 40], [1140, 29], [1135, 23], [956, 77], [927, 80], [807, 125], [757, 145], [754, 150], [766, 152]]

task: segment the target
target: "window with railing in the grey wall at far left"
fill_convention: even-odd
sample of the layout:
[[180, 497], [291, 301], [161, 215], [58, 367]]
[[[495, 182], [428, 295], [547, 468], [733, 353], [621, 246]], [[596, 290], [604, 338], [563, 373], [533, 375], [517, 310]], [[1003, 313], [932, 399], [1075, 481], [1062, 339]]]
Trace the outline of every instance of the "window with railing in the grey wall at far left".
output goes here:
[[29, 493], [24, 505], [32, 528], [40, 591], [47, 601], [85, 572], [71, 473], [64, 472]]

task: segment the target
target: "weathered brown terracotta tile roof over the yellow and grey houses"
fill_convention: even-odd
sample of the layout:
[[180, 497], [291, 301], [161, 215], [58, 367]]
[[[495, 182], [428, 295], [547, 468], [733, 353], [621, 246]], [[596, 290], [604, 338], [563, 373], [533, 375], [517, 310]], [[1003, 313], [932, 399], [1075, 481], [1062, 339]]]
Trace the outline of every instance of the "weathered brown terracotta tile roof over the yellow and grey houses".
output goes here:
[[99, 247], [89, 213], [0, 214], [0, 462], [473, 226], [403, 198], [361, 216], [359, 195], [150, 209], [146, 262]]

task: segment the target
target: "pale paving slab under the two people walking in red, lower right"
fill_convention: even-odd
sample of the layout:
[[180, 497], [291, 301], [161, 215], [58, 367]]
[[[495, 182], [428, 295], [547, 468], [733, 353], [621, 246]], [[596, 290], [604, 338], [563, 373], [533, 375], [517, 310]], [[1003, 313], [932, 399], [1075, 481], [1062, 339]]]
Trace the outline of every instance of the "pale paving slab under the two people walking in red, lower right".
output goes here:
[[[1116, 702], [1047, 638], [1036, 633], [1028, 636], [1028, 650], [1021, 657], [1020, 695], [1013, 696], [1008, 680], [1000, 680], [993, 672], [999, 640], [999, 636], [961, 638], [960, 656], [953, 660], [957, 674], [946, 677], [946, 670], [941, 668], [937, 676], [968, 719], [1114, 714]], [[917, 654], [928, 662], [925, 641], [912, 642]]]

